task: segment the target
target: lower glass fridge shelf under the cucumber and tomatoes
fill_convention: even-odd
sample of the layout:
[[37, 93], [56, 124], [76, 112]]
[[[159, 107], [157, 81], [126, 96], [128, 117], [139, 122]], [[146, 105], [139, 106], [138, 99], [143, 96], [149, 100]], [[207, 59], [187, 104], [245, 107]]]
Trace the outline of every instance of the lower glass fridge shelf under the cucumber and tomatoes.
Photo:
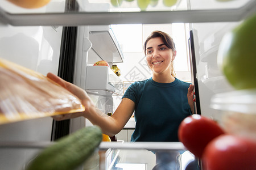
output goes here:
[[[54, 142], [0, 142], [0, 150], [25, 150], [34, 151], [23, 165], [27, 165], [41, 150], [53, 145]], [[8, 156], [6, 157], [8, 158]], [[187, 151], [180, 142], [101, 142], [80, 168], [89, 169], [95, 167], [98, 170], [131, 169], [129, 167], [144, 167], [144, 169], [179, 169], [184, 170], [188, 164], [197, 163], [191, 152]], [[159, 167], [161, 166], [161, 167]], [[171, 167], [170, 167], [171, 166]], [[138, 168], [134, 168], [138, 169]], [[195, 168], [197, 169], [197, 168]]]

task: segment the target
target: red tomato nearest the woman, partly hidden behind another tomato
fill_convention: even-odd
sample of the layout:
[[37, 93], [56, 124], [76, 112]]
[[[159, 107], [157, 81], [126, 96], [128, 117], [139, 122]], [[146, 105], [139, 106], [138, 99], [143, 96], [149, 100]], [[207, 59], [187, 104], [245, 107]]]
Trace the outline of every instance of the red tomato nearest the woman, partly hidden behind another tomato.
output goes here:
[[221, 134], [224, 131], [216, 122], [199, 114], [186, 117], [178, 130], [180, 142], [197, 158], [201, 158], [207, 144]]

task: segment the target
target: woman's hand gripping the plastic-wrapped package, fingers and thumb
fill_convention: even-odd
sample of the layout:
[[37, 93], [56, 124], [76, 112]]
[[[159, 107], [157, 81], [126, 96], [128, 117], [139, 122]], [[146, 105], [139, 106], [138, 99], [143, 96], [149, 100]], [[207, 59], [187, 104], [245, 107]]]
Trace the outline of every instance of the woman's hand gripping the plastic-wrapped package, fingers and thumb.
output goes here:
[[53, 116], [55, 120], [60, 121], [60, 120], [66, 120], [69, 118], [75, 118], [80, 116], [85, 117], [86, 113], [89, 112], [90, 109], [95, 109], [93, 101], [90, 99], [88, 94], [84, 90], [82, 90], [82, 88], [76, 86], [75, 84], [72, 84], [63, 80], [59, 76], [52, 73], [48, 73], [47, 77], [53, 80], [53, 82], [56, 82], [57, 84], [60, 84], [60, 86], [66, 88], [73, 95], [77, 96], [81, 100], [81, 104], [84, 105], [85, 107], [84, 112], [61, 114], [61, 115]]

